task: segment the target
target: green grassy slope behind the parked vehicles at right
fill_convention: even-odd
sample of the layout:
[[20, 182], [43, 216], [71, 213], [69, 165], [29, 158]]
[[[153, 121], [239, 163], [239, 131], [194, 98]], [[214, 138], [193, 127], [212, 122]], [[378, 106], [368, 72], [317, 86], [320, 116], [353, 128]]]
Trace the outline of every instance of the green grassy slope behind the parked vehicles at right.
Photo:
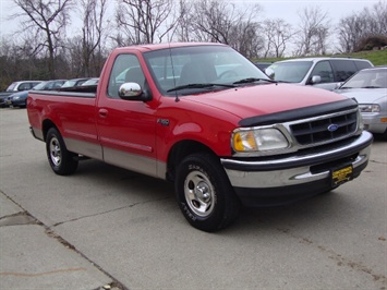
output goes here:
[[[327, 55], [327, 56], [314, 56], [314, 57], [343, 57], [343, 58], [356, 58], [356, 59], [367, 59], [374, 65], [387, 65], [387, 50], [370, 50], [370, 51], [361, 51], [361, 52], [351, 52], [346, 55]], [[258, 59], [256, 61], [262, 62], [275, 62], [279, 60], [286, 60], [292, 58], [268, 58], [268, 59]]]

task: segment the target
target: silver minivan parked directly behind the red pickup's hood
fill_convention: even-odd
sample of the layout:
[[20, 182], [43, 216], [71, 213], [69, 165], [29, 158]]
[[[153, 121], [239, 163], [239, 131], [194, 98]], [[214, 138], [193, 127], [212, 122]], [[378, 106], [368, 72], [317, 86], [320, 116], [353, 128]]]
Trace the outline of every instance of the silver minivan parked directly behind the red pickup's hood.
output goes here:
[[332, 90], [338, 83], [372, 67], [372, 62], [364, 59], [302, 58], [277, 61], [265, 73], [275, 81]]

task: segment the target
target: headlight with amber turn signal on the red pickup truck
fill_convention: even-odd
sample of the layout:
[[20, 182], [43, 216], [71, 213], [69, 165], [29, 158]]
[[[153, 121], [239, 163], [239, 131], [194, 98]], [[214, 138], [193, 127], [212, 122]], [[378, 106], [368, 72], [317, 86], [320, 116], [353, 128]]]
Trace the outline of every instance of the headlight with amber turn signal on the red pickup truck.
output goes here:
[[232, 135], [232, 147], [239, 153], [252, 153], [287, 148], [289, 143], [283, 134], [274, 128], [238, 129]]

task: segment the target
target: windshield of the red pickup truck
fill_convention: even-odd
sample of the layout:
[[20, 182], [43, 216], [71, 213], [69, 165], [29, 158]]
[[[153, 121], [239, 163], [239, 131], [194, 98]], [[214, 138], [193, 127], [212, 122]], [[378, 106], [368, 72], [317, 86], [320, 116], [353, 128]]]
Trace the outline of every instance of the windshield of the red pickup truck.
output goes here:
[[[266, 74], [230, 47], [179, 47], [149, 51], [144, 57], [164, 95], [227, 89], [268, 80]], [[242, 80], [244, 82], [238, 83]]]

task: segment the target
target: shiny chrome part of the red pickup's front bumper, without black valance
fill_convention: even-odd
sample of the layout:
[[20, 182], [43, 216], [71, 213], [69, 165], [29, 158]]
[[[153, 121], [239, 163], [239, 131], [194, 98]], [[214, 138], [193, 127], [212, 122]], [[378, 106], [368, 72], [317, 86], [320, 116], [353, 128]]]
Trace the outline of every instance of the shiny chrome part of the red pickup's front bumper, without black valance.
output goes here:
[[[372, 134], [364, 131], [352, 143], [339, 148], [316, 154], [273, 158], [264, 161], [242, 161], [221, 158], [220, 161], [230, 179], [232, 186], [240, 189], [269, 189], [313, 183], [329, 179], [330, 170], [313, 173], [311, 167], [335, 162], [355, 155], [352, 160], [353, 171], [363, 170], [371, 153]], [[337, 165], [339, 166], [339, 164]], [[360, 173], [360, 172], [359, 172]], [[316, 189], [318, 191], [318, 189]]]

